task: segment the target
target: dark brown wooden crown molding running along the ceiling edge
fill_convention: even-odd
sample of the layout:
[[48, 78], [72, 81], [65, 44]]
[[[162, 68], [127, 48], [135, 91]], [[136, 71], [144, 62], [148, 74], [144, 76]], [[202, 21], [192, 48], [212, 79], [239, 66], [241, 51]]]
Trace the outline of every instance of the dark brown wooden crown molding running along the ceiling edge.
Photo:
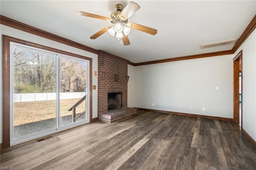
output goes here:
[[116, 58], [118, 60], [122, 60], [132, 66], [142, 66], [142, 65], [148, 65], [148, 64], [157, 64], [157, 63], [164, 63], [164, 62], [174, 62], [174, 61], [181, 61], [181, 60], [191, 60], [191, 59], [196, 59], [196, 58], [205, 58], [205, 57], [213, 57], [213, 56], [222, 56], [222, 55], [228, 55], [228, 54], [234, 54], [238, 48], [244, 43], [244, 41], [250, 36], [250, 34], [255, 30], [256, 28], [256, 15], [254, 18], [252, 18], [252, 21], [250, 24], [247, 26], [247, 28], [244, 30], [240, 38], [238, 38], [236, 44], [233, 46], [232, 50], [226, 50], [226, 51], [220, 51], [220, 52], [211, 52], [211, 53], [206, 53], [206, 54], [196, 54], [196, 55], [191, 55], [191, 56], [182, 56], [182, 57], [176, 57], [176, 58], [168, 58], [168, 59], [163, 59], [163, 60], [154, 60], [150, 62], [140, 62], [140, 63], [133, 63], [130, 62], [129, 60], [126, 60], [124, 58], [121, 58], [119, 56], [116, 56], [114, 54], [110, 54], [108, 52], [102, 51], [102, 50], [96, 50], [94, 48], [85, 46], [83, 44], [79, 44], [77, 42], [74, 42], [72, 40], [68, 40], [66, 38], [63, 38], [61, 36], [57, 36], [55, 34], [52, 34], [50, 32], [46, 32], [44, 30], [40, 30], [38, 28], [29, 26], [27, 24], [24, 24], [22, 22], [18, 22], [16, 20], [13, 20], [11, 18], [7, 18], [5, 16], [0, 15], [0, 24], [22, 30], [24, 32], [28, 32], [30, 34], [34, 34], [37, 36], [41, 36], [43, 38], [47, 38], [56, 42], [60, 42], [62, 44], [66, 44], [68, 46], [73, 46], [75, 48], [79, 48], [82, 50], [86, 50], [88, 52], [92, 52], [94, 54], [103, 54], [103, 55], [108, 55], [110, 57]]

